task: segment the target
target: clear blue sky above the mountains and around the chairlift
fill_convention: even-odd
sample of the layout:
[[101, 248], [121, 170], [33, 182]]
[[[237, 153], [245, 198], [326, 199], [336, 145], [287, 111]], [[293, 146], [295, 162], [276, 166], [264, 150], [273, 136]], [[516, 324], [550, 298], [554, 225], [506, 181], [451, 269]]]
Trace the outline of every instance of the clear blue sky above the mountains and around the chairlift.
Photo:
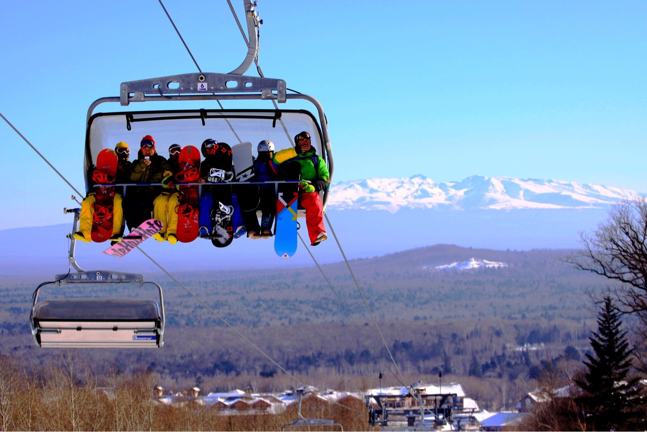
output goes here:
[[[123, 81], [197, 71], [155, 0], [1, 3], [0, 112], [80, 190], [88, 106]], [[226, 1], [164, 5], [203, 71], [242, 62]], [[647, 192], [645, 1], [259, 0], [258, 12], [265, 76], [327, 113], [335, 181], [482, 174]], [[67, 185], [5, 122], [0, 139], [0, 229], [70, 222]]]

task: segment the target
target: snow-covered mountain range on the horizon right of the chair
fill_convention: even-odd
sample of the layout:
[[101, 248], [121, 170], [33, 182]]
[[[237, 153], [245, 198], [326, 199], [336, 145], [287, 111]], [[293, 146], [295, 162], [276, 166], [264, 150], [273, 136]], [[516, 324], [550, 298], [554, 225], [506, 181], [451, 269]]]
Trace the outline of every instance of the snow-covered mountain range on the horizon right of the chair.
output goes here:
[[332, 209], [388, 210], [583, 209], [600, 208], [626, 198], [633, 190], [573, 181], [472, 176], [458, 182], [435, 183], [417, 175], [396, 179], [342, 181], [331, 186]]

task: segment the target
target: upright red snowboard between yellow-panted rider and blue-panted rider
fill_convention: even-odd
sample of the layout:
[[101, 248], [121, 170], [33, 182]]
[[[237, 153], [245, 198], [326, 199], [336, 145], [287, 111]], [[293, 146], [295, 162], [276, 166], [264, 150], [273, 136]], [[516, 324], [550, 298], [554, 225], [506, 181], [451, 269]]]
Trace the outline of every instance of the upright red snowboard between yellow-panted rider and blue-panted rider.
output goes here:
[[[178, 183], [194, 183], [200, 178], [200, 150], [185, 146], [178, 161], [180, 172], [175, 174]], [[177, 211], [177, 240], [182, 243], [193, 242], [198, 236], [200, 224], [200, 198], [198, 185], [179, 185], [180, 196]]]

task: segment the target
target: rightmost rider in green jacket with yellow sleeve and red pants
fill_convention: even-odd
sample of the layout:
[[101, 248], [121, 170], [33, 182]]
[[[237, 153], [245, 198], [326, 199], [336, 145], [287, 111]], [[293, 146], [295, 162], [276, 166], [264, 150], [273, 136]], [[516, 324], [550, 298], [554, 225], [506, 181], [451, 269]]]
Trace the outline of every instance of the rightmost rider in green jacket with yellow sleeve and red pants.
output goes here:
[[298, 133], [294, 137], [294, 144], [294, 148], [276, 152], [273, 161], [276, 165], [287, 162], [298, 162], [300, 165], [299, 205], [305, 209], [305, 224], [311, 245], [316, 246], [328, 238], [323, 225], [323, 203], [319, 191], [328, 187], [330, 173], [322, 157], [316, 154], [308, 132]]

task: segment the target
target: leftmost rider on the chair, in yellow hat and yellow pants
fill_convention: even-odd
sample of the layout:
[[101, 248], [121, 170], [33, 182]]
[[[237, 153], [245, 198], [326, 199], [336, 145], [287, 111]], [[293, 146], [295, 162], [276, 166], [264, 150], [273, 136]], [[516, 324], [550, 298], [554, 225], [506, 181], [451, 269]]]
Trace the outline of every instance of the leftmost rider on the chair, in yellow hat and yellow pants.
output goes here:
[[[126, 150], [124, 150], [126, 149]], [[129, 169], [128, 155], [130, 149], [128, 144], [124, 141], [117, 142], [115, 145], [115, 153], [119, 159], [117, 165], [117, 174], [116, 174], [116, 183], [125, 183], [124, 172]], [[125, 157], [124, 157], [125, 155]], [[120, 172], [120, 166], [122, 170]], [[90, 177], [90, 192], [87, 196], [83, 198], [81, 203], [81, 212], [79, 214], [79, 231], [72, 234], [76, 240], [81, 240], [82, 242], [90, 243], [92, 242], [91, 232], [92, 232], [92, 222], [94, 219], [94, 210], [96, 210], [99, 205], [95, 203], [96, 198], [94, 194], [94, 184], [95, 183], [105, 183], [105, 179], [98, 178], [100, 173], [96, 172], [96, 166], [93, 166], [93, 175]], [[123, 233], [123, 223], [124, 223], [124, 211], [122, 209], [122, 194], [123, 188], [115, 188], [115, 196], [113, 198], [113, 234], [110, 238], [110, 241], [115, 244], [121, 240]], [[109, 213], [109, 209], [99, 209], [101, 212]]]

